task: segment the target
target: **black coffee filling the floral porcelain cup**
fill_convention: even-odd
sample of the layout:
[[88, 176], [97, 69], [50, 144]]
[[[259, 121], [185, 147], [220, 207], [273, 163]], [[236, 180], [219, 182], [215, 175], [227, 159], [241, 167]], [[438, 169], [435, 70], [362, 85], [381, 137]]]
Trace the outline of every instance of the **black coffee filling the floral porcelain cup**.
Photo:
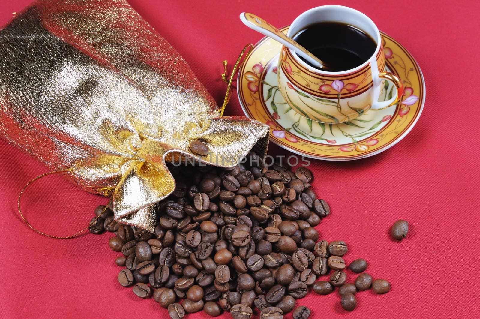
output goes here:
[[[300, 30], [293, 39], [324, 61], [322, 70], [346, 71], [368, 61], [377, 43], [366, 32], [342, 22], [323, 21]], [[312, 65], [302, 57], [306, 63]]]

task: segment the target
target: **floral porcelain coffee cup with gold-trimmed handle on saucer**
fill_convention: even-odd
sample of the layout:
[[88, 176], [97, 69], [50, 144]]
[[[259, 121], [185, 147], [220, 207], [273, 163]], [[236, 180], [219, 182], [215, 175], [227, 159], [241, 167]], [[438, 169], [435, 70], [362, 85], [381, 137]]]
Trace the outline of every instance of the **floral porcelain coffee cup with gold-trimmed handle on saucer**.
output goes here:
[[[368, 110], [380, 110], [398, 103], [403, 83], [397, 75], [385, 72], [380, 31], [365, 14], [338, 5], [316, 7], [300, 14], [290, 25], [287, 35], [294, 37], [307, 26], [322, 21], [342, 22], [359, 28], [376, 42], [375, 52], [368, 61], [353, 69], [328, 72], [312, 67], [297, 53], [282, 46], [277, 67], [278, 86], [289, 106], [312, 121], [342, 123]], [[379, 102], [385, 80], [396, 87], [396, 95]]]

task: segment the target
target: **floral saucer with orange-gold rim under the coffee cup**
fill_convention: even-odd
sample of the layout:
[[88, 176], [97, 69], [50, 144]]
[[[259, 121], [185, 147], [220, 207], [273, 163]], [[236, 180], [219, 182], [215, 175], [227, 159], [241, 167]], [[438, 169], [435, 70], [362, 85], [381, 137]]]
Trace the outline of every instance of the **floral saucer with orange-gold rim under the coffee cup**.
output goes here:
[[[281, 29], [287, 33], [288, 26]], [[278, 90], [277, 61], [281, 45], [265, 37], [258, 42], [239, 72], [237, 91], [245, 114], [270, 126], [270, 140], [294, 153], [315, 159], [351, 160], [392, 147], [413, 128], [425, 103], [425, 83], [408, 51], [382, 34], [387, 71], [397, 74], [405, 90], [399, 104], [369, 110], [356, 120], [339, 124], [312, 122], [292, 110]], [[384, 82], [380, 101], [394, 94]]]

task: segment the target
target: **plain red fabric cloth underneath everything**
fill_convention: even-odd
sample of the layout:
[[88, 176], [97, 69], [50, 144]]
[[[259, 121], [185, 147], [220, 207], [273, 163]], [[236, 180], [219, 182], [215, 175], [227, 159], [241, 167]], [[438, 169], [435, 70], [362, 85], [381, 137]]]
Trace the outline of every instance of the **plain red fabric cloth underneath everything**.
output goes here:
[[[30, 0], [3, 0], [0, 25]], [[240, 23], [254, 12], [274, 25], [326, 3], [307, 0], [130, 0], [132, 6], [180, 52], [220, 104], [225, 85], [221, 61], [235, 61], [261, 36]], [[293, 5], [292, 3], [298, 4]], [[426, 81], [426, 103], [411, 133], [391, 149], [352, 162], [313, 160], [313, 187], [332, 207], [317, 226], [321, 238], [345, 240], [347, 262], [365, 258], [374, 278], [391, 282], [385, 295], [357, 294], [347, 313], [337, 292], [309, 294], [297, 305], [312, 318], [478, 318], [480, 243], [478, 90], [479, 1], [336, 1], [369, 15], [413, 54]], [[227, 115], [242, 114], [236, 95]], [[274, 145], [271, 154], [288, 154]], [[111, 233], [50, 239], [20, 219], [16, 201], [24, 184], [45, 167], [0, 140], [1, 318], [151, 318], [168, 316], [117, 282], [119, 253]], [[107, 200], [60, 177], [37, 182], [23, 209], [38, 229], [68, 235], [84, 227]], [[397, 219], [408, 237], [391, 239]], [[356, 276], [348, 271], [348, 281]], [[165, 318], [165, 317], [164, 317]], [[208, 318], [204, 313], [188, 318]], [[224, 314], [222, 318], [229, 318]], [[291, 318], [291, 313], [286, 316]]]

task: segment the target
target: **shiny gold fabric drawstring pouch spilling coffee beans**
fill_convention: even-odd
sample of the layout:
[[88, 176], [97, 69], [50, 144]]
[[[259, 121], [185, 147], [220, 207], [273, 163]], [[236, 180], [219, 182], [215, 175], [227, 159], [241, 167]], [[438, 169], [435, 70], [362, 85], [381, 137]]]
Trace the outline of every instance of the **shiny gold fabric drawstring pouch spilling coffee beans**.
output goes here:
[[[153, 231], [180, 154], [231, 167], [268, 127], [218, 118], [187, 63], [124, 0], [40, 0], [0, 31], [0, 136]], [[194, 156], [194, 139], [211, 154]], [[222, 160], [223, 159], [223, 160]]]

